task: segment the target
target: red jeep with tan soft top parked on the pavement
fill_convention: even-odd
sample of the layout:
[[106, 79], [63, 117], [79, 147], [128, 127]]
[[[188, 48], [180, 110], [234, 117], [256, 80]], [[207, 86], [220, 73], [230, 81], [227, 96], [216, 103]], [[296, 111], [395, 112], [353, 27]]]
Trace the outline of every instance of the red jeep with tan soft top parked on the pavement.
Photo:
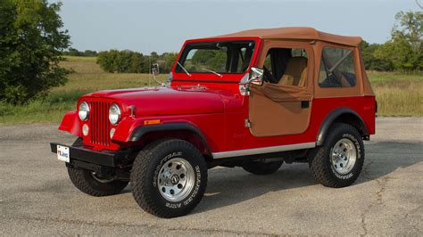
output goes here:
[[79, 138], [51, 149], [80, 191], [112, 195], [130, 182], [158, 217], [195, 208], [216, 166], [267, 175], [308, 162], [320, 184], [348, 186], [375, 133], [360, 43], [311, 28], [187, 40], [168, 85], [82, 96], [59, 127]]

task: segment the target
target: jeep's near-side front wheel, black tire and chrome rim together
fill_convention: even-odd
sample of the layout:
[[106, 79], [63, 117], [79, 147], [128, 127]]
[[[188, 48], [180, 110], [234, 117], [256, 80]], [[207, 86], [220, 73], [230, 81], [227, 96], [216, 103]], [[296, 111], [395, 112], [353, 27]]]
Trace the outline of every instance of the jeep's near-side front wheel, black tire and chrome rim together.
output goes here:
[[207, 166], [191, 143], [160, 140], [139, 152], [130, 179], [132, 194], [146, 212], [157, 217], [181, 217], [203, 198]]

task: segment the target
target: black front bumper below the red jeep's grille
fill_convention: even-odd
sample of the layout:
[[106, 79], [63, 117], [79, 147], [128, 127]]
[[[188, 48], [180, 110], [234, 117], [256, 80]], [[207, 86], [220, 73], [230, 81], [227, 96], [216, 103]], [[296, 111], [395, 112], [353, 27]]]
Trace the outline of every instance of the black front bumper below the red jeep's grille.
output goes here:
[[71, 146], [62, 143], [50, 143], [52, 152], [57, 153], [57, 145], [67, 146], [70, 151], [70, 162], [67, 166], [94, 171], [100, 176], [116, 169], [126, 168], [131, 159], [131, 150], [126, 151], [94, 151], [89, 147]]

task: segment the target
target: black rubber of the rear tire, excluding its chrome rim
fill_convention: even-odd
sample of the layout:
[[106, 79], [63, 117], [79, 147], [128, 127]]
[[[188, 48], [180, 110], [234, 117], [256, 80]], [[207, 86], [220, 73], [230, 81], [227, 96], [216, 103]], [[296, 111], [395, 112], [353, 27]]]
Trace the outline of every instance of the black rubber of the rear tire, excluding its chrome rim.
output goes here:
[[[346, 174], [340, 175], [333, 168], [330, 154], [335, 144], [346, 138], [352, 141], [356, 149], [356, 160], [351, 169]], [[355, 127], [348, 124], [335, 124], [329, 127], [329, 133], [325, 142], [311, 151], [309, 156], [309, 166], [314, 179], [327, 187], [341, 188], [349, 186], [360, 176], [364, 164], [364, 144], [360, 133]]]

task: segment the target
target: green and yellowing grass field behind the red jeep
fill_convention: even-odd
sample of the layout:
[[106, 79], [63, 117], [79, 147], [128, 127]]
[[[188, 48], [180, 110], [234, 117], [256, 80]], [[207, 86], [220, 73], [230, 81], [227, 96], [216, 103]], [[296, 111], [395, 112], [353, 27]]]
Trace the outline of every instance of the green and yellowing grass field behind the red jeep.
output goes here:
[[[83, 94], [147, 86], [151, 78], [146, 74], [104, 72], [94, 57], [67, 57], [62, 66], [74, 70], [65, 86], [55, 87], [46, 98], [26, 105], [0, 103], [0, 124], [59, 123], [66, 111], [76, 109], [76, 101]], [[423, 116], [423, 75], [371, 71], [368, 75], [377, 94], [379, 116]], [[166, 78], [159, 77], [161, 81]]]

